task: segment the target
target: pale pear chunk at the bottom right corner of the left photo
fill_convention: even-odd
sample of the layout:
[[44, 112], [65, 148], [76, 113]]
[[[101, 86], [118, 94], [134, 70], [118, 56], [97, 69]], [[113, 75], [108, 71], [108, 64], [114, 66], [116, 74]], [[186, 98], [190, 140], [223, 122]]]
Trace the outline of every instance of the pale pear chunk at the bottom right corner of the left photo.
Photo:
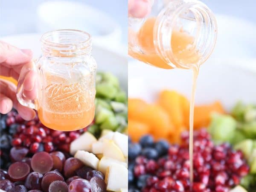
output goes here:
[[107, 169], [105, 183], [108, 191], [121, 192], [121, 189], [128, 188], [128, 169], [116, 163], [112, 164]]

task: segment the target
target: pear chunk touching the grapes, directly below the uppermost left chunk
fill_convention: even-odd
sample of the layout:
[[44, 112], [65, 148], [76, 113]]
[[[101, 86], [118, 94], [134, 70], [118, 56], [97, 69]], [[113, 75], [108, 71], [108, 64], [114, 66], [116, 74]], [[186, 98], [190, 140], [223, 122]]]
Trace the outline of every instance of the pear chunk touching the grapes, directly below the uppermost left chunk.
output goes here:
[[93, 153], [89, 153], [88, 151], [76, 151], [74, 156], [75, 158], [79, 159], [84, 165], [89, 166], [93, 169], [98, 169], [99, 166], [99, 159]]

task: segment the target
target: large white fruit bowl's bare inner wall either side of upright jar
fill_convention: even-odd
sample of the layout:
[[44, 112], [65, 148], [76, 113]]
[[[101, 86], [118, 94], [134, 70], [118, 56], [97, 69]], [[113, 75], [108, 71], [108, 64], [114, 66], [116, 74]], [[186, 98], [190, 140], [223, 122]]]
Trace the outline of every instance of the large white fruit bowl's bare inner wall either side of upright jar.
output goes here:
[[[19, 48], [32, 49], [34, 58], [38, 58], [41, 55], [40, 38], [40, 34], [23, 34], [2, 37], [0, 40]], [[93, 44], [92, 54], [97, 62], [97, 70], [113, 73], [119, 78], [121, 87], [127, 91], [127, 56], [112, 52], [96, 44]]]

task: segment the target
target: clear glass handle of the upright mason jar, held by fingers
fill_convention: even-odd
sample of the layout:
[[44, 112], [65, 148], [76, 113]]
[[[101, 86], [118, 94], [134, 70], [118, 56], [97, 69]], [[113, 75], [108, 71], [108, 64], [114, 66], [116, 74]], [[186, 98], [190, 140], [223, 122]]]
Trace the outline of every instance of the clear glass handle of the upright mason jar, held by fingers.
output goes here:
[[[35, 97], [35, 99], [29, 99], [25, 96], [24, 92], [26, 93], [27, 90], [24, 90], [24, 80], [26, 78], [29, 78], [29, 76], [32, 76], [32, 73], [36, 73], [36, 77], [38, 77], [38, 70], [36, 69], [36, 60], [33, 60], [31, 62], [29, 62], [28, 64], [25, 64], [21, 71], [20, 71], [20, 77], [18, 80], [18, 84], [17, 84], [17, 100], [18, 102], [28, 108], [32, 108], [37, 110], [38, 107], [36, 105], [36, 100], [37, 100], [37, 93], [35, 93], [35, 96], [31, 96], [31, 97]], [[38, 87], [38, 80], [37, 78], [34, 79], [34, 86]]]

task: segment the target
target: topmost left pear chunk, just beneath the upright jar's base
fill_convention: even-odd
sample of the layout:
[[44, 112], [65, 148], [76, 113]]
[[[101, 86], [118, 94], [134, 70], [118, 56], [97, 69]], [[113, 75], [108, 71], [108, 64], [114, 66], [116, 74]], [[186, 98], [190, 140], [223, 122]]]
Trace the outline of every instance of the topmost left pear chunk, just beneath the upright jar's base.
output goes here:
[[97, 139], [93, 136], [93, 134], [85, 132], [70, 144], [70, 154], [74, 155], [78, 150], [91, 152], [92, 144], [96, 141]]

